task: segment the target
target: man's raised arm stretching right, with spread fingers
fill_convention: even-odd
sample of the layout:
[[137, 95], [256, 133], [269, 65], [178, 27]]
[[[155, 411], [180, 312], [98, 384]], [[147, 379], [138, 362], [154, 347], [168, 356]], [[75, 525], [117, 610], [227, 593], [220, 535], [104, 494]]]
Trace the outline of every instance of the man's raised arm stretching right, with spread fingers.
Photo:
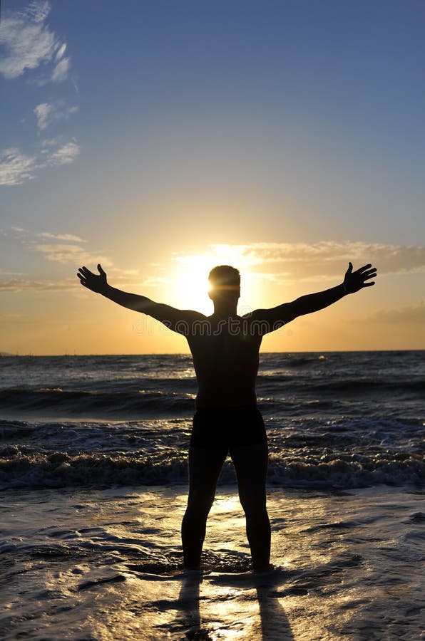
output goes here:
[[325, 289], [324, 291], [318, 291], [317, 293], [300, 296], [291, 303], [283, 303], [283, 305], [278, 305], [270, 309], [256, 310], [252, 313], [252, 318], [255, 320], [265, 320], [268, 327], [265, 333], [272, 332], [282, 327], [282, 325], [290, 323], [290, 321], [297, 318], [297, 316], [304, 316], [304, 314], [310, 314], [319, 311], [319, 309], [329, 307], [329, 305], [336, 303], [340, 298], [347, 296], [349, 293], [354, 293], [363, 287], [374, 285], [374, 282], [367, 283], [366, 281], [368, 281], [369, 278], [375, 278], [375, 276], [377, 276], [376, 267], [372, 267], [372, 265], [369, 264], [353, 271], [352, 263], [349, 263], [344, 281], [340, 285]]

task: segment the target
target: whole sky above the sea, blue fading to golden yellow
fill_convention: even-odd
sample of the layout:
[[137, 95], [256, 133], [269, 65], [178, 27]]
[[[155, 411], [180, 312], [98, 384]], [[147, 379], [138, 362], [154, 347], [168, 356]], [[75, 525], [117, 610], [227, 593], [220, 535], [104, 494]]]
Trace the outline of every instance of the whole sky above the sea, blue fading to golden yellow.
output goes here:
[[[80, 261], [101, 259], [117, 286], [179, 306], [179, 259], [206, 268], [200, 256], [213, 259], [217, 244], [252, 271], [254, 306], [260, 294], [280, 302], [278, 286], [295, 297], [337, 284], [350, 251], [380, 261], [364, 315], [375, 314], [374, 336], [379, 318], [405, 312], [377, 345], [396, 331], [397, 345], [423, 346], [412, 319], [424, 315], [424, 21], [419, 1], [4, 2], [9, 349], [46, 348], [28, 328], [19, 338], [29, 301], [57, 312], [55, 349], [71, 349], [63, 301], [96, 306], [73, 283]], [[309, 256], [290, 264], [303, 244]], [[129, 340], [121, 349], [138, 351]]]

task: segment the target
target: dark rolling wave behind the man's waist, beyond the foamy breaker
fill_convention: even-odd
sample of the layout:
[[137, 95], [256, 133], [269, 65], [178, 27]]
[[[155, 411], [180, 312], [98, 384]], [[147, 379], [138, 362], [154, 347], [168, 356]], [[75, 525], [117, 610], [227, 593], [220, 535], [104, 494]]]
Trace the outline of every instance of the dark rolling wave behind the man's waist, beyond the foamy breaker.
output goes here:
[[[123, 383], [106, 387], [104, 390], [66, 390], [58, 385], [51, 387], [9, 387], [0, 390], [0, 409], [6, 412], [36, 412], [39, 414], [60, 411], [63, 415], [93, 416], [129, 415], [137, 416], [142, 412], [187, 413], [194, 411], [195, 382], [192, 380], [168, 379], [143, 380], [140, 387], [128, 387]], [[282, 383], [285, 386], [282, 387]], [[118, 387], [118, 389], [117, 389]], [[332, 380], [309, 379], [293, 380], [289, 375], [260, 375], [257, 395], [260, 405], [267, 410], [292, 410], [304, 407], [310, 411], [336, 407], [344, 401], [344, 395], [352, 398], [352, 393], [373, 395], [379, 391], [379, 402], [390, 402], [394, 396], [410, 394], [423, 398], [425, 382], [396, 381], [389, 384], [374, 380]], [[282, 392], [285, 397], [281, 397]], [[315, 407], [313, 407], [315, 406]], [[304, 410], [303, 410], [304, 411]]]

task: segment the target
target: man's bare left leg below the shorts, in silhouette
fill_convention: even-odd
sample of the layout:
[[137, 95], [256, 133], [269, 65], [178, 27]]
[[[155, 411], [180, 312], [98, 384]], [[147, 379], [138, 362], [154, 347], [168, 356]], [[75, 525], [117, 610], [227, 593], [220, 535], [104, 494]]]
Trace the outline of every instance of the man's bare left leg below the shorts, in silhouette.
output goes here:
[[189, 496], [183, 516], [182, 544], [185, 568], [198, 568], [205, 538], [207, 517], [227, 451], [189, 448]]

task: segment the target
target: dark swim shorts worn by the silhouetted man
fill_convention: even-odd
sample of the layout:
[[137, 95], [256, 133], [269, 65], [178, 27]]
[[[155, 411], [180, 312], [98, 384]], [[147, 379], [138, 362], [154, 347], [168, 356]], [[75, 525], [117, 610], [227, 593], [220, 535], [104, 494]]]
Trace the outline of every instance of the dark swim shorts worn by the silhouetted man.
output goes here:
[[255, 405], [200, 407], [193, 417], [191, 447], [228, 449], [267, 443], [265, 424]]

